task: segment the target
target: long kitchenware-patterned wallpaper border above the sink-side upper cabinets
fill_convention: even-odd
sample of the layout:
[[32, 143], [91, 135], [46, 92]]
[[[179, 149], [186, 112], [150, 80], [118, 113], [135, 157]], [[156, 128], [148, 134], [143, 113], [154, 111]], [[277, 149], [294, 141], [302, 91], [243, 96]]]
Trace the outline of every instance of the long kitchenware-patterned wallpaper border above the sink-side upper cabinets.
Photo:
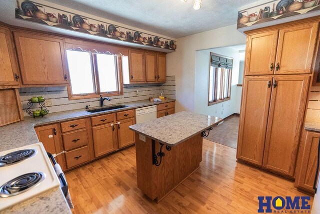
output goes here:
[[143, 46], [175, 51], [176, 41], [112, 25], [31, 1], [17, 1], [15, 18]]

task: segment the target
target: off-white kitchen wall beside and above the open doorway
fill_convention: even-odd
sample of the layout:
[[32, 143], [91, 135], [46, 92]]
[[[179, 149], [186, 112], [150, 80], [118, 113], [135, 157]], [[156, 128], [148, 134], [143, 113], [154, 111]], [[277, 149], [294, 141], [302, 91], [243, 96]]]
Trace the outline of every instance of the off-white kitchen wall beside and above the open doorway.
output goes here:
[[244, 43], [245, 36], [236, 30], [236, 25], [182, 37], [177, 40], [177, 51], [166, 56], [167, 75], [175, 75], [176, 112], [194, 112], [196, 51]]

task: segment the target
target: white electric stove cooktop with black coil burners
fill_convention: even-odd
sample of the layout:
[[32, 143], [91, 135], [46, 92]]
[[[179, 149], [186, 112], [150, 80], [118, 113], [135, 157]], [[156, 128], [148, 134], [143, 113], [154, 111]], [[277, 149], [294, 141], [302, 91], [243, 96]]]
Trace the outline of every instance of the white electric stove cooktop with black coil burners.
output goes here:
[[0, 152], [0, 211], [57, 186], [42, 143]]

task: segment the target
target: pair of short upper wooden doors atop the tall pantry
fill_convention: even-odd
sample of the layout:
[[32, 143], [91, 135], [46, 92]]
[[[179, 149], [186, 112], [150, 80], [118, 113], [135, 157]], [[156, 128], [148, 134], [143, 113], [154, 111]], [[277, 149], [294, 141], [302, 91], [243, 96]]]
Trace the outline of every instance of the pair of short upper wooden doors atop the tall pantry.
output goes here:
[[311, 73], [318, 22], [247, 36], [245, 75]]

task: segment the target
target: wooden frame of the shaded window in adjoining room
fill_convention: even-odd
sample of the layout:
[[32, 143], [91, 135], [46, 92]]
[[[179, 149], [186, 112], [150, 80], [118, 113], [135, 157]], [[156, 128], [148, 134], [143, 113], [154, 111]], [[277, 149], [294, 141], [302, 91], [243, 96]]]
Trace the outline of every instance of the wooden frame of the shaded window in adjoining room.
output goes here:
[[[217, 67], [214, 67], [212, 66], [212, 68], [215, 70], [214, 71], [214, 81], [213, 81], [213, 86], [212, 86], [212, 90], [213, 90], [213, 100], [210, 100], [210, 68], [211, 68], [211, 56], [214, 55], [214, 56], [218, 56], [218, 57], [223, 57], [223, 58], [227, 58], [227, 59], [231, 59], [232, 60], [232, 63], [233, 63], [233, 58], [231, 57], [226, 57], [226, 56], [223, 56], [223, 55], [219, 55], [219, 54], [215, 54], [215, 53], [212, 53], [210, 52], [210, 59], [209, 59], [209, 72], [208, 72], [208, 106], [211, 106], [211, 105], [215, 105], [217, 103], [222, 103], [224, 101], [228, 101], [231, 99], [231, 81], [232, 81], [232, 69], [226, 69], [226, 68], [217, 68]], [[217, 99], [217, 79], [218, 79], [218, 72], [219, 72], [219, 69], [220, 69], [220, 72], [221, 72], [221, 81], [220, 81], [220, 98]], [[224, 98], [224, 73], [225, 71], [229, 71], [228, 72], [228, 92], [227, 92], [227, 97]]]

